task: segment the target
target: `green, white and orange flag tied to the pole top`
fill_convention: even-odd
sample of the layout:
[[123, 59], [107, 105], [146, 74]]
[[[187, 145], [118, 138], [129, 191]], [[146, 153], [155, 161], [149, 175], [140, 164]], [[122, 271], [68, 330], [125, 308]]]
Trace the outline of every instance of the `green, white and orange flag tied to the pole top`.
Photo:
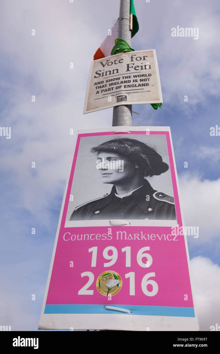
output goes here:
[[[133, 0], [131, 0], [130, 14], [132, 15], [131, 37], [133, 37], [139, 29]], [[111, 55], [112, 48], [115, 45], [114, 40], [118, 38], [118, 23], [119, 20], [117, 20], [115, 24], [112, 26], [111, 31], [109, 31], [109, 34], [106, 36], [105, 40], [100, 45], [99, 49], [96, 51], [94, 55], [94, 60], [105, 58]]]

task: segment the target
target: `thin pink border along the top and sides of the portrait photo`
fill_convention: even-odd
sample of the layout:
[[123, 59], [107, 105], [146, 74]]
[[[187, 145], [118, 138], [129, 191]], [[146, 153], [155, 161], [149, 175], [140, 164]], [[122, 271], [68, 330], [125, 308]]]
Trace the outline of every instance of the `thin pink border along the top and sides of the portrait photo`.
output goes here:
[[[80, 139], [82, 137], [104, 136], [104, 135], [111, 135], [112, 136], [115, 134], [113, 132], [95, 132], [95, 133], [84, 133], [84, 134], [78, 135], [77, 142], [76, 142], [76, 149], [75, 149], [75, 153], [73, 156], [73, 162], [72, 162], [72, 167], [71, 167], [71, 172], [70, 172], [70, 179], [69, 179], [69, 183], [68, 183], [68, 187], [67, 187], [67, 191], [66, 191], [66, 199], [65, 199], [64, 210], [63, 210], [60, 228], [65, 227], [67, 209], [68, 209], [69, 200], [70, 200], [70, 193], [71, 193], [71, 188], [72, 188], [72, 181], [73, 181], [73, 175], [74, 175], [75, 166], [76, 166], [76, 160], [77, 160], [77, 155], [78, 155], [78, 150], [79, 150]], [[129, 136], [130, 135], [146, 135], [146, 131], [131, 131]], [[183, 226], [181, 213], [180, 213], [177, 180], [176, 180], [176, 173], [175, 173], [175, 169], [174, 169], [170, 134], [168, 131], [149, 131], [149, 135], [166, 135], [167, 150], [168, 150], [168, 155], [169, 155], [170, 171], [171, 171], [171, 179], [172, 179], [172, 187], [173, 187], [173, 195], [174, 195], [174, 202], [175, 202], [176, 215], [177, 215], [177, 224], [179, 224], [179, 226]]]

